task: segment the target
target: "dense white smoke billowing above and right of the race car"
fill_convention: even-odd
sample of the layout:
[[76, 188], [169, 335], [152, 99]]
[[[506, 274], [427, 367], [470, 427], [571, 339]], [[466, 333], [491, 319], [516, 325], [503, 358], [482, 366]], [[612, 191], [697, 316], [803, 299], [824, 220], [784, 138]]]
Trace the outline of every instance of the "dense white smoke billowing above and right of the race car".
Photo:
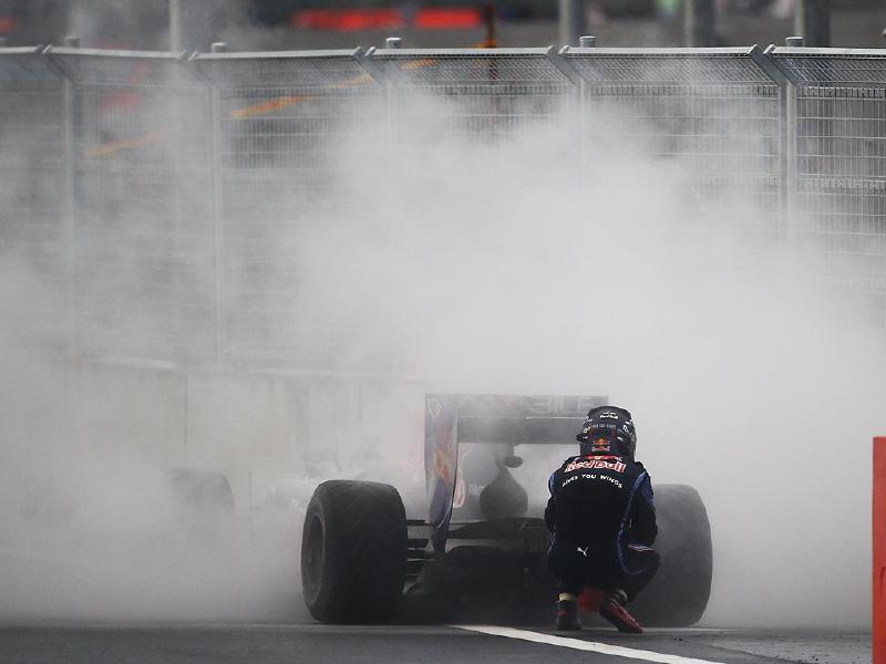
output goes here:
[[[445, 122], [393, 151], [382, 131], [346, 146], [373, 165], [341, 183], [347, 218], [396, 247], [315, 255], [341, 266], [332, 314], [360, 321], [354, 345], [393, 338], [447, 391], [607, 394], [653, 479], [707, 502], [705, 624], [866, 624], [884, 352], [821, 258], [749, 234], [772, 217], [738, 189], [687, 194], [686, 160], [638, 157], [624, 127], [583, 177], [568, 120], [490, 142]], [[347, 277], [373, 267], [398, 276], [390, 315]], [[518, 471], [540, 505], [557, 461], [522, 453], [544, 458]]]

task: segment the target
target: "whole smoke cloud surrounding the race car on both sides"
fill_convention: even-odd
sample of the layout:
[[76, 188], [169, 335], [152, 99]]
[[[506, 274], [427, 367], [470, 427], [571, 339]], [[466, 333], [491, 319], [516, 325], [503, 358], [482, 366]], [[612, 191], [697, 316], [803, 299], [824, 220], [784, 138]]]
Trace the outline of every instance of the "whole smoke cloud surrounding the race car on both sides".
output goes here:
[[[857, 309], [821, 286], [815, 257], [742, 232], [766, 212], [738, 190], [689, 195], [686, 163], [638, 156], [627, 129], [583, 168], [567, 113], [477, 139], [451, 129], [447, 103], [413, 111], [424, 131], [395, 146], [385, 123], [341, 134], [334, 214], [299, 227], [308, 249], [291, 317], [334, 332], [334, 369], [387, 356], [395, 375], [437, 391], [606, 394], [633, 413], [653, 480], [692, 485], [707, 502], [705, 624], [865, 623], [884, 352]], [[297, 525], [271, 519], [256, 535], [243, 518], [181, 521], [167, 471], [212, 453], [157, 439], [182, 435], [172, 416], [156, 422], [169, 412], [152, 403], [163, 390], [137, 392], [136, 405], [72, 402], [71, 370], [25, 354], [27, 330], [47, 323], [24, 312], [63, 298], [28, 258], [2, 256], [2, 309], [14, 315], [0, 349], [0, 618], [291, 615], [298, 598], [279, 589], [298, 590]], [[400, 460], [402, 421], [415, 414], [379, 402], [371, 422], [315, 412], [315, 440], [269, 450], [255, 435], [268, 412], [231, 397], [218, 416], [244, 439], [216, 467], [240, 516], [255, 465], [265, 489], [268, 468], [300, 471], [293, 449], [319, 439], [346, 445], [373, 427], [377, 452]], [[153, 443], [121, 424], [133, 414]], [[532, 454], [517, 476], [538, 502], [557, 459]]]

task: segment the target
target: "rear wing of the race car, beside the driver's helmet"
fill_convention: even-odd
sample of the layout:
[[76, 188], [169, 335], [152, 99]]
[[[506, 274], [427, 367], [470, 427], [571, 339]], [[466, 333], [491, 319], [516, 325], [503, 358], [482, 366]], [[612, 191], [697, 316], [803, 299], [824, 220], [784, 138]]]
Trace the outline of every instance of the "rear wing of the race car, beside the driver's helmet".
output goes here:
[[568, 444], [605, 396], [429, 394], [424, 408], [427, 516], [434, 548], [445, 550], [452, 517], [459, 444]]

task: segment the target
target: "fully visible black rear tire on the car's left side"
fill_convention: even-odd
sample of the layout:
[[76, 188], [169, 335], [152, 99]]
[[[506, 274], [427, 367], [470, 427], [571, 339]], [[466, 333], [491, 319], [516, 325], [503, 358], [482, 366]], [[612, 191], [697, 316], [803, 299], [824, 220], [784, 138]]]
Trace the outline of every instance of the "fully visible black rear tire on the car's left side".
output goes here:
[[390, 621], [406, 575], [406, 515], [396, 489], [333, 479], [313, 492], [301, 539], [301, 585], [327, 623]]

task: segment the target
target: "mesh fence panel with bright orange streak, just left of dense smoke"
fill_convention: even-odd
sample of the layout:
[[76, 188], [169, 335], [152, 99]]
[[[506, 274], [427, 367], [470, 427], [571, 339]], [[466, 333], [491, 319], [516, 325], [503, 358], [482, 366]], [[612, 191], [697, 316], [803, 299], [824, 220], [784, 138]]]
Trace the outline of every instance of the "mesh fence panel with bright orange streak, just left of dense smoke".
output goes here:
[[328, 324], [310, 280], [337, 279], [318, 261], [316, 228], [339, 238], [336, 183], [343, 146], [381, 117], [380, 84], [361, 51], [198, 54], [217, 134], [215, 205], [223, 286], [220, 344], [228, 363], [323, 370], [350, 330]]

